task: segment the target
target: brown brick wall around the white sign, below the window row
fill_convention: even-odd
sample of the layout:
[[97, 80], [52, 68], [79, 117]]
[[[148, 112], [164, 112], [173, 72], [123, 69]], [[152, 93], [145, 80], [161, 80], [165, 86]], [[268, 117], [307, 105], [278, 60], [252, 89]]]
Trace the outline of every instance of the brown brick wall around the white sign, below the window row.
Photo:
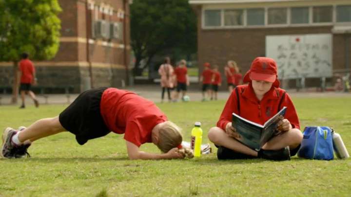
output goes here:
[[[212, 29], [201, 28], [201, 7], [194, 7], [197, 13], [198, 32], [198, 62], [203, 65], [210, 62], [218, 65], [225, 82], [224, 66], [228, 60], [234, 60], [244, 75], [250, 68], [251, 62], [257, 56], [265, 55], [266, 36], [269, 35], [303, 35], [303, 34], [331, 34], [332, 26], [310, 26], [310, 27], [282, 27], [282, 28], [243, 28], [243, 29]], [[345, 36], [333, 35], [333, 70], [345, 68]], [[349, 39], [351, 46], [351, 39]], [[351, 54], [350, 56], [351, 57]], [[351, 59], [349, 60], [351, 63]], [[200, 66], [200, 73], [202, 72]], [[331, 79], [328, 79], [331, 81]], [[319, 80], [306, 80], [307, 86], [317, 86]], [[290, 85], [294, 82], [289, 82]], [[221, 87], [227, 89], [226, 83]]]

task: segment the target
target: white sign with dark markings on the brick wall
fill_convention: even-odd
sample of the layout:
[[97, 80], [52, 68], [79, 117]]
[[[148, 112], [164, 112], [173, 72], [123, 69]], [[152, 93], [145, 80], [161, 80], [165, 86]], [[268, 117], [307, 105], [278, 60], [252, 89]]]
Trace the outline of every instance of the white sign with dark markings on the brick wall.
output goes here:
[[266, 56], [278, 65], [280, 79], [332, 76], [331, 34], [266, 36]]

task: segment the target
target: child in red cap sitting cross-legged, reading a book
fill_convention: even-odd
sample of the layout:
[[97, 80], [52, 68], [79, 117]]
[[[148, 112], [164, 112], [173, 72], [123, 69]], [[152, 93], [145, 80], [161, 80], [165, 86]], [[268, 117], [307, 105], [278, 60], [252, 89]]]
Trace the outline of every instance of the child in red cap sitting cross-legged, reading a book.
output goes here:
[[[222, 111], [217, 126], [212, 127], [208, 133], [210, 141], [218, 146], [218, 159], [259, 157], [289, 160], [290, 156], [298, 151], [303, 135], [299, 130], [299, 120], [290, 96], [279, 88], [275, 61], [267, 57], [255, 58], [243, 81], [249, 84], [236, 87]], [[277, 136], [258, 152], [239, 142], [240, 136], [232, 126], [233, 112], [263, 125], [284, 106], [287, 107], [287, 111], [285, 119], [278, 123]]]

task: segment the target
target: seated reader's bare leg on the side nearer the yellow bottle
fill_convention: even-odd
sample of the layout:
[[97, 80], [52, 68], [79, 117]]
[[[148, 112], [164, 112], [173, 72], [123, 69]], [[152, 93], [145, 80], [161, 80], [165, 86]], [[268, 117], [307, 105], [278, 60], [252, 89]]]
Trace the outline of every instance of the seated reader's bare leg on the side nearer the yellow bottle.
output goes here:
[[215, 143], [216, 145], [224, 146], [236, 152], [257, 157], [256, 151], [252, 150], [251, 148], [245, 146], [242, 143], [239, 143], [237, 140], [230, 137], [223, 129], [219, 127], [212, 127], [209, 130], [208, 138], [211, 142]]

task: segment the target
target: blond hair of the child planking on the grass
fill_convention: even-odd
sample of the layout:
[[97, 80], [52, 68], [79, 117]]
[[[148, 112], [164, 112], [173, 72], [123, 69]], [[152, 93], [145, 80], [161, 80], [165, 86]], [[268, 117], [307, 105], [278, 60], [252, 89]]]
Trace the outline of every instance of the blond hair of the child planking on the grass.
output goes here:
[[159, 129], [157, 147], [167, 153], [172, 148], [177, 147], [183, 141], [181, 129], [176, 124], [166, 121]]

